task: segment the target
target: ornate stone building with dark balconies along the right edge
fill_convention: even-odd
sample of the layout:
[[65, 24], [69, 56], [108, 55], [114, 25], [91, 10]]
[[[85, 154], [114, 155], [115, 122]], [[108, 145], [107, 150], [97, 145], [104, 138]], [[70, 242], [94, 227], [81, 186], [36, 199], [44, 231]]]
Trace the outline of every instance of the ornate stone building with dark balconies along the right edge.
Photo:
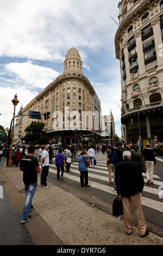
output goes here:
[[154, 145], [163, 141], [163, 1], [123, 0], [118, 8], [122, 139]]

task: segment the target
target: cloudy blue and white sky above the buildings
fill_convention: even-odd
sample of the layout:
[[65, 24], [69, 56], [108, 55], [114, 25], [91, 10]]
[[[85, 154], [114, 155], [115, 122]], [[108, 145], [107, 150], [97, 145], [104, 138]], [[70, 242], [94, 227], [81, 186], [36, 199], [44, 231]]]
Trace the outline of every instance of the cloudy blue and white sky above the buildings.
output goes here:
[[103, 115], [112, 111], [121, 137], [121, 75], [115, 57], [118, 0], [0, 0], [0, 125], [64, 72], [78, 50]]

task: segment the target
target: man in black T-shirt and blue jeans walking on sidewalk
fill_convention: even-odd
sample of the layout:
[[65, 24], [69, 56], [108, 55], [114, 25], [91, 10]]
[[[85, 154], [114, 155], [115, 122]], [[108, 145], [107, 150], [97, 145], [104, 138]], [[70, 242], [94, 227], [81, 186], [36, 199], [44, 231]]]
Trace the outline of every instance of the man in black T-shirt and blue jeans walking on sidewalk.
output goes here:
[[32, 199], [37, 187], [37, 173], [40, 172], [39, 161], [34, 154], [35, 147], [29, 145], [28, 155], [23, 156], [20, 161], [20, 170], [23, 172], [24, 193], [26, 199], [21, 217], [22, 223], [30, 221], [31, 216], [29, 215], [29, 211], [33, 209]]

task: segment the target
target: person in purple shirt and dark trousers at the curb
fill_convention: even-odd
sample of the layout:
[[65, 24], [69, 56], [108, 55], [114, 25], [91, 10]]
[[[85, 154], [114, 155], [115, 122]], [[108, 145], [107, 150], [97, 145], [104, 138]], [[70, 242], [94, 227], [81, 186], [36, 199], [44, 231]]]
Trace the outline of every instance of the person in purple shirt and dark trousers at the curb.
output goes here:
[[57, 179], [59, 180], [60, 168], [61, 168], [61, 180], [64, 179], [64, 164], [66, 168], [65, 156], [62, 154], [62, 150], [59, 149], [58, 154], [55, 155], [55, 166], [57, 167]]

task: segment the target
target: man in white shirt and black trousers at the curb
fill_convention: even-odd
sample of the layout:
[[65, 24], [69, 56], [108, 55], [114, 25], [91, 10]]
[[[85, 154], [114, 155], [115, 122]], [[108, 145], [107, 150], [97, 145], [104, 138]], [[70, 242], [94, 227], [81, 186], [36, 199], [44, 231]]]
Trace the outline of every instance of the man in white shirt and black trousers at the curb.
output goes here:
[[42, 173], [41, 173], [41, 182], [40, 186], [47, 188], [47, 175], [49, 171], [49, 154], [48, 154], [48, 145], [45, 145], [41, 154], [41, 164], [42, 164]]

